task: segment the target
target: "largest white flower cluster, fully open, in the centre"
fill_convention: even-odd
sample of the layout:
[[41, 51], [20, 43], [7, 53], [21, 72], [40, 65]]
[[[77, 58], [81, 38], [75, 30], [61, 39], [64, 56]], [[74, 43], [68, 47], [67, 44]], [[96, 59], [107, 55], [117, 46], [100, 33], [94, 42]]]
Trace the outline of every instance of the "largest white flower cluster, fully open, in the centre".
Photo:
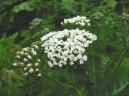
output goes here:
[[84, 55], [85, 48], [97, 39], [89, 31], [72, 29], [50, 32], [41, 38], [44, 52], [47, 53], [50, 67], [54, 65], [74, 65], [76, 62], [83, 64], [87, 61]]

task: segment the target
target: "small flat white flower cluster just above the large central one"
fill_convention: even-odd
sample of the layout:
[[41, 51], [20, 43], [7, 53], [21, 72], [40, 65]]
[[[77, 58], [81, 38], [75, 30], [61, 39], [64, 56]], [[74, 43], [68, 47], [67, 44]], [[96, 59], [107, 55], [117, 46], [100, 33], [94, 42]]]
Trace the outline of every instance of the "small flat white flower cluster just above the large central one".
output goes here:
[[64, 19], [63, 22], [61, 22], [61, 25], [64, 24], [75, 24], [80, 26], [90, 26], [90, 20], [87, 19], [85, 16], [76, 16], [73, 18]]

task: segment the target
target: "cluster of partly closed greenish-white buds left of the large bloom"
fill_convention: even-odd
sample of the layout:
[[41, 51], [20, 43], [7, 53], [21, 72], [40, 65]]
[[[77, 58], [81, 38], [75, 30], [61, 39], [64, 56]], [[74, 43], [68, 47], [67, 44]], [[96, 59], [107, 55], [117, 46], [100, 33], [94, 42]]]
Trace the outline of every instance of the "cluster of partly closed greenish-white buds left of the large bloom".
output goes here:
[[18, 51], [16, 54], [17, 63], [14, 63], [13, 66], [20, 67], [24, 72], [25, 76], [37, 75], [41, 76], [39, 64], [40, 59], [35, 59], [37, 56], [37, 50], [39, 46], [32, 45], [32, 47], [23, 48], [21, 51]]

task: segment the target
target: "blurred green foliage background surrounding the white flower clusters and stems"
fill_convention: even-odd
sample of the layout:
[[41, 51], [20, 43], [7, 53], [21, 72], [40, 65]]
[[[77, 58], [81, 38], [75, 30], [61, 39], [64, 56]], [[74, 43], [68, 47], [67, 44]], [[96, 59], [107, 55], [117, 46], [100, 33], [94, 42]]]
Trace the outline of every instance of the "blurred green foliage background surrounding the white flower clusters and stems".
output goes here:
[[[123, 12], [129, 13], [129, 0], [0, 0], [0, 96], [102, 96], [101, 86], [123, 50], [124, 29], [119, 18]], [[91, 20], [90, 31], [98, 37], [87, 50], [87, 64], [72, 70], [74, 77], [66, 69], [63, 75], [61, 69], [46, 69], [56, 79], [71, 85], [78, 82], [76, 92], [47, 78], [26, 80], [13, 70], [16, 51], [49, 31], [62, 30], [60, 22], [76, 15], [87, 16]], [[41, 19], [38, 24], [35, 18]], [[128, 78], [129, 54], [110, 84], [115, 82], [115, 87], [108, 87], [112, 94], [105, 96], [129, 96]], [[88, 87], [91, 85], [94, 88]]]

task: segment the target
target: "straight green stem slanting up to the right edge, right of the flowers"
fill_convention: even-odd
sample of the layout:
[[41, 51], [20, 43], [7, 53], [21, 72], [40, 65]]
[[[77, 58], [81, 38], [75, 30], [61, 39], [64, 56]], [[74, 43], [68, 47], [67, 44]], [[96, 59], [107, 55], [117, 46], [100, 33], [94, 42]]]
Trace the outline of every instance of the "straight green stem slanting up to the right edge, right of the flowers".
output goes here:
[[109, 78], [107, 79], [107, 82], [103, 85], [103, 88], [106, 88], [107, 86], [110, 85], [112, 79], [113, 79], [113, 76], [116, 74], [117, 70], [119, 69], [120, 67], [120, 64], [121, 62], [123, 61], [124, 57], [126, 56], [126, 53], [127, 53], [127, 49], [125, 48], [125, 50], [123, 51], [120, 59], [118, 60], [114, 70], [111, 72], [111, 74], [109, 75]]

